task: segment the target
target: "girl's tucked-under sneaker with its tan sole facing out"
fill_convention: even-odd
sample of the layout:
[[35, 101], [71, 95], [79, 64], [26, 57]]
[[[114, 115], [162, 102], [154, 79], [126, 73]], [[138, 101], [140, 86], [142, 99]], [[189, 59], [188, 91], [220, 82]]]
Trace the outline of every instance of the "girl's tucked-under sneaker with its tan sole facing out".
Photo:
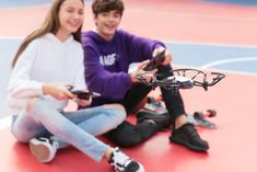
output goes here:
[[48, 138], [39, 137], [30, 140], [30, 149], [34, 157], [40, 162], [50, 162], [58, 148], [58, 142]]

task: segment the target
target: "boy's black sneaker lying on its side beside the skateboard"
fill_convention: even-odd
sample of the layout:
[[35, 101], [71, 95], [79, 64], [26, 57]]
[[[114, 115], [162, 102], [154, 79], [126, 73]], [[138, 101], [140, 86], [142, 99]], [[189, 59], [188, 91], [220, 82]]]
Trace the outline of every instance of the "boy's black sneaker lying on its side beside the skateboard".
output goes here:
[[137, 114], [138, 123], [141, 123], [143, 121], [154, 121], [159, 127], [159, 130], [165, 130], [165, 128], [168, 128], [172, 124], [172, 117], [168, 113], [164, 114], [156, 114], [150, 111], [140, 111]]

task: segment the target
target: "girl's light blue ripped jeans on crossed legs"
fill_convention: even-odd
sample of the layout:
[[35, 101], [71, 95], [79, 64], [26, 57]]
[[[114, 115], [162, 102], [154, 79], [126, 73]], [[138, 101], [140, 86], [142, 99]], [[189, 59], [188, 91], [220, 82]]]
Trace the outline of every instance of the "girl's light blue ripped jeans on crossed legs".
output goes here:
[[13, 136], [22, 142], [34, 137], [52, 134], [61, 147], [74, 146], [95, 161], [101, 161], [109, 148], [94, 136], [116, 128], [126, 118], [122, 108], [97, 106], [62, 113], [38, 99], [30, 112], [22, 111], [12, 124]]

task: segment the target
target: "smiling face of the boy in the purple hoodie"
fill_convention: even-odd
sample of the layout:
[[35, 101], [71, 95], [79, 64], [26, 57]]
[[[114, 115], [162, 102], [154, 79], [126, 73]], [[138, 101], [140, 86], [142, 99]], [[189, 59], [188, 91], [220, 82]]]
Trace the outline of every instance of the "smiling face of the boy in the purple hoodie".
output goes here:
[[94, 20], [98, 34], [109, 41], [120, 23], [121, 15], [117, 10], [112, 10], [98, 13]]

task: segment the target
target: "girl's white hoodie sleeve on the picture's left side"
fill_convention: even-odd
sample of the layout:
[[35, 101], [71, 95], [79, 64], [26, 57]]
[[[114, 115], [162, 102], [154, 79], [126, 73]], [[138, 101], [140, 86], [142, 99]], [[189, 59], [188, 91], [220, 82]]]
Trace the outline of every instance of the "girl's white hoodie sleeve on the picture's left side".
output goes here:
[[20, 55], [8, 87], [11, 99], [30, 99], [43, 95], [43, 83], [31, 79], [33, 62], [38, 55], [39, 42], [32, 42]]

